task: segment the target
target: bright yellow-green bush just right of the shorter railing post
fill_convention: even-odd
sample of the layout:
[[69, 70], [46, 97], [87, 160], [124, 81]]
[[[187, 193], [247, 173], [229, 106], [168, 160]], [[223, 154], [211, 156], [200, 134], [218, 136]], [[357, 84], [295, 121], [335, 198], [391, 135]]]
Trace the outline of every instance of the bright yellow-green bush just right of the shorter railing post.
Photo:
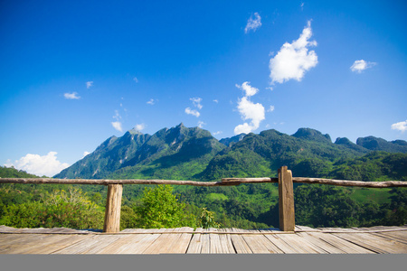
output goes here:
[[194, 216], [185, 213], [185, 203], [178, 201], [172, 192], [170, 185], [145, 190], [141, 205], [135, 210], [139, 215], [137, 228], [195, 227]]

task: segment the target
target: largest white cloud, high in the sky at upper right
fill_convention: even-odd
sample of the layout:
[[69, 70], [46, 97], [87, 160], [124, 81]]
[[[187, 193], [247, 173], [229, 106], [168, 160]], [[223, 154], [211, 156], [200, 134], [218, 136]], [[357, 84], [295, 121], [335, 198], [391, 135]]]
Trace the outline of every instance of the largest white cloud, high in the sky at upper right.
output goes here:
[[316, 41], [308, 41], [311, 36], [311, 22], [308, 21], [298, 40], [284, 43], [277, 55], [270, 59], [271, 84], [281, 84], [289, 79], [300, 81], [306, 71], [317, 65], [317, 53], [308, 51], [309, 46], [317, 46]]

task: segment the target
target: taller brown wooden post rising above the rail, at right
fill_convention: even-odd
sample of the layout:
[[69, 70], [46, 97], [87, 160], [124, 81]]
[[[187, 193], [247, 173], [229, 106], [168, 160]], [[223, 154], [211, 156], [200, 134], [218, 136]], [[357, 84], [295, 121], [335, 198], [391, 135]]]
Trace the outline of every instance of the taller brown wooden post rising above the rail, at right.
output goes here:
[[294, 191], [292, 186], [292, 173], [287, 166], [279, 168], [279, 229], [294, 231]]

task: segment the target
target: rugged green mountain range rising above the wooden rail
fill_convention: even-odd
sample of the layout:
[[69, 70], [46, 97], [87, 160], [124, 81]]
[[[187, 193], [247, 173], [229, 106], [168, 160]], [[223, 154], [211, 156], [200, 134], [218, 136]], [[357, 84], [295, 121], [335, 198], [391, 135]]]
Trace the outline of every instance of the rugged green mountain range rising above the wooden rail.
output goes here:
[[[367, 164], [377, 169], [373, 177], [372, 171], [364, 173]], [[275, 176], [281, 165], [302, 177], [403, 180], [407, 142], [367, 136], [356, 144], [345, 137], [333, 143], [329, 135], [311, 128], [299, 128], [294, 135], [271, 129], [217, 140], [209, 131], [181, 123], [154, 135], [132, 129], [111, 136], [54, 177], [213, 181]]]

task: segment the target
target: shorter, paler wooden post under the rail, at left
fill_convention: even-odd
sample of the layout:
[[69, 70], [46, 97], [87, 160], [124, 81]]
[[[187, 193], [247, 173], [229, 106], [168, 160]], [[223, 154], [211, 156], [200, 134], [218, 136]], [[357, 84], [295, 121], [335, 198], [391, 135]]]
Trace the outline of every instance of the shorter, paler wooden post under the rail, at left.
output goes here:
[[106, 200], [105, 224], [103, 232], [120, 231], [120, 208], [122, 184], [108, 184], [108, 198]]

